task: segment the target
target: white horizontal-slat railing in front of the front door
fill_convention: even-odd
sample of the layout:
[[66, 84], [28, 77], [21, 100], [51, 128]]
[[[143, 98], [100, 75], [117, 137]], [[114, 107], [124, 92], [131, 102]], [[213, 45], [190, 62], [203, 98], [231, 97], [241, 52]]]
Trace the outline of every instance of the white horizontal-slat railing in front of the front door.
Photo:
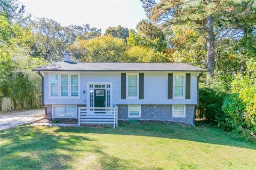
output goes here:
[[118, 108], [91, 108], [81, 107], [78, 109], [78, 125], [81, 124], [113, 124], [118, 126]]

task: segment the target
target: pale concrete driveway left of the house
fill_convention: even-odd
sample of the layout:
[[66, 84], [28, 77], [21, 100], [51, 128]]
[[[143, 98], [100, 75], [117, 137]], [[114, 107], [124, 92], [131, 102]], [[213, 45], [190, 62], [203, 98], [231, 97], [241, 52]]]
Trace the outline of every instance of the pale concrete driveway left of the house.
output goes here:
[[0, 115], [0, 130], [33, 123], [44, 118], [44, 109], [13, 112]]

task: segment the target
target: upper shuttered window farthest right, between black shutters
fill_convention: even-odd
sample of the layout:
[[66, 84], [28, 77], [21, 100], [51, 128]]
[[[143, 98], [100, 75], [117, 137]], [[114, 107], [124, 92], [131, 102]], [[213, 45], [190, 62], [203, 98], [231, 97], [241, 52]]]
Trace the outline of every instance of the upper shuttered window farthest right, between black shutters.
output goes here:
[[185, 75], [174, 75], [174, 99], [183, 99], [185, 97]]

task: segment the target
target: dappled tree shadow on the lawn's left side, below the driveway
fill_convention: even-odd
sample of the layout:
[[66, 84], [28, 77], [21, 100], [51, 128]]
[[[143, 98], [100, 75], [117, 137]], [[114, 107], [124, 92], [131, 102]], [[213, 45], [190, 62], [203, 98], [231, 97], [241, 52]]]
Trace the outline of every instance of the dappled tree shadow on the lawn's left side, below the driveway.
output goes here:
[[67, 154], [82, 136], [63, 136], [42, 132], [33, 126], [20, 126], [1, 132], [1, 169], [70, 169], [73, 157]]

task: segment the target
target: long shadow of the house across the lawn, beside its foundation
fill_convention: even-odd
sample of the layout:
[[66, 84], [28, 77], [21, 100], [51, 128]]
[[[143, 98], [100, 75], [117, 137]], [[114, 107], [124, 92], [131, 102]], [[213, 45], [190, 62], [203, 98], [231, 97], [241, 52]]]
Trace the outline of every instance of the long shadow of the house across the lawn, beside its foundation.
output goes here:
[[138, 135], [164, 137], [169, 139], [187, 140], [232, 147], [256, 149], [256, 143], [238, 139], [233, 134], [213, 127], [193, 127], [186, 124], [166, 122], [120, 122], [118, 128], [73, 127], [59, 128], [56, 132], [99, 133], [116, 135]]

